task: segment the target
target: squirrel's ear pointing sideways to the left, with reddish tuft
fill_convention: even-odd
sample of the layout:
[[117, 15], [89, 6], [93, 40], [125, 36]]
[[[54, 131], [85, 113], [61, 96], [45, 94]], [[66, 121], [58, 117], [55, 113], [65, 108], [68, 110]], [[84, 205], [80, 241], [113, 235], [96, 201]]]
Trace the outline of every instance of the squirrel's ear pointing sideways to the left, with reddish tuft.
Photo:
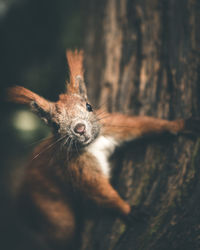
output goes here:
[[42, 120], [49, 123], [54, 103], [47, 101], [34, 92], [15, 86], [8, 89], [8, 101], [27, 104]]

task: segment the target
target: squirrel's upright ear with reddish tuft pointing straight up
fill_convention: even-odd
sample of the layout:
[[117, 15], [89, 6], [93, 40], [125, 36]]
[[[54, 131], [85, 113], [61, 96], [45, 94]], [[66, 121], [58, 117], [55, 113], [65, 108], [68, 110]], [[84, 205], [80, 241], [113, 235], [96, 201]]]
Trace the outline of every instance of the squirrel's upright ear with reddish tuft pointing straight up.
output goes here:
[[70, 70], [70, 82], [67, 83], [68, 93], [79, 94], [87, 99], [87, 91], [84, 83], [83, 51], [67, 50], [67, 61]]

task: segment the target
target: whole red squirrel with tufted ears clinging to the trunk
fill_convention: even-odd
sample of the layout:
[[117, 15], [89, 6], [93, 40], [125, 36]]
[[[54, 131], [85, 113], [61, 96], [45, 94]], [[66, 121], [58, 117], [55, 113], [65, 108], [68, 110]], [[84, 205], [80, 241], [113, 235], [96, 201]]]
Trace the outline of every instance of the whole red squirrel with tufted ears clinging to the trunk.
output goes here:
[[124, 142], [145, 135], [199, 132], [199, 119], [168, 121], [94, 110], [84, 83], [83, 52], [67, 51], [66, 93], [50, 102], [32, 91], [9, 89], [11, 101], [28, 104], [52, 128], [36, 147], [17, 198], [27, 225], [48, 249], [75, 249], [91, 203], [129, 220], [134, 210], [110, 184], [109, 157]]

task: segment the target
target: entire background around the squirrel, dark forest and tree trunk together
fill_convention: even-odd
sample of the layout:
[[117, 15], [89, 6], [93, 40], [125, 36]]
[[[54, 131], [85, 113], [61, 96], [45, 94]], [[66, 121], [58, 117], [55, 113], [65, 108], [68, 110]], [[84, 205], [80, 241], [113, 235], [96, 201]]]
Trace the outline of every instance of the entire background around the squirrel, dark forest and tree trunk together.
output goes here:
[[[91, 102], [109, 111], [165, 119], [200, 116], [199, 0], [0, 0], [0, 249], [38, 249], [15, 215], [23, 167], [49, 130], [5, 89], [50, 100], [65, 89], [65, 51], [84, 48]], [[98, 216], [84, 250], [200, 249], [200, 139], [164, 136], [112, 158], [113, 185], [148, 220], [127, 228]], [[31, 242], [31, 243], [30, 243]]]

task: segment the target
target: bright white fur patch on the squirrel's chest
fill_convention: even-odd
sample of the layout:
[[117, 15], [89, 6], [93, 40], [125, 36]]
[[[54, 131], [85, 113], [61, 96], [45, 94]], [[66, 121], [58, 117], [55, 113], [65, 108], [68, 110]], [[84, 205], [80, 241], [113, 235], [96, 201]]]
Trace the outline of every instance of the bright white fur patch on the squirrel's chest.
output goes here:
[[90, 152], [98, 161], [103, 174], [109, 177], [110, 164], [108, 158], [118, 145], [117, 141], [112, 137], [100, 136], [91, 145], [87, 151]]

